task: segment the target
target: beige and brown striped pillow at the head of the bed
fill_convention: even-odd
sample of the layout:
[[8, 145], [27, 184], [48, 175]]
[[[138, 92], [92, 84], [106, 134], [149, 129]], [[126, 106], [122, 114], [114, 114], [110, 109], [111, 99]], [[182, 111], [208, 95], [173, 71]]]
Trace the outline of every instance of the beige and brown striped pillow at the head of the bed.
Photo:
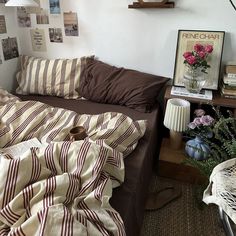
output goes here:
[[16, 75], [16, 93], [79, 98], [80, 71], [84, 62], [86, 57], [49, 60], [22, 55], [21, 71]]

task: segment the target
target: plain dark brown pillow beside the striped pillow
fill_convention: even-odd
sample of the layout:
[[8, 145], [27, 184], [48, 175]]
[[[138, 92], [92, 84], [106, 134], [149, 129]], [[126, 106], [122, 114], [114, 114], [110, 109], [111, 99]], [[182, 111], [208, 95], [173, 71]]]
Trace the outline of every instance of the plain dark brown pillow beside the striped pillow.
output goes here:
[[92, 59], [86, 64], [82, 63], [79, 94], [91, 101], [150, 112], [168, 80]]

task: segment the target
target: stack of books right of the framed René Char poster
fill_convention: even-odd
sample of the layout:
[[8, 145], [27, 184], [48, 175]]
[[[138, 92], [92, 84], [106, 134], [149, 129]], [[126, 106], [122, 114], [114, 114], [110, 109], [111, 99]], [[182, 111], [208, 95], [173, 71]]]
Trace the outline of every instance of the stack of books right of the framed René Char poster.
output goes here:
[[220, 93], [222, 97], [236, 98], [236, 63], [225, 66]]

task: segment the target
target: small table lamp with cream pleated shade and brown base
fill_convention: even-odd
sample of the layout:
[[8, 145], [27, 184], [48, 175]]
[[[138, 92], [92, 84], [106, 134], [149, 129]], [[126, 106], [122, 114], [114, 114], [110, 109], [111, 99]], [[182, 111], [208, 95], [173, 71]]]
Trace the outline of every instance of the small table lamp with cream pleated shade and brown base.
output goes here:
[[190, 122], [190, 102], [180, 98], [167, 101], [164, 125], [170, 130], [170, 145], [179, 149], [182, 143], [182, 132]]

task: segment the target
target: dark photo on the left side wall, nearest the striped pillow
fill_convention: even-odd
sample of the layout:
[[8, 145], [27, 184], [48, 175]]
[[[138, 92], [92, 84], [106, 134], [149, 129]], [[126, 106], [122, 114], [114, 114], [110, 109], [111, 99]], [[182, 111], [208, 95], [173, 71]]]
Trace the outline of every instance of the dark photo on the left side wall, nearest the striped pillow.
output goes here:
[[2, 39], [2, 49], [5, 61], [19, 57], [16, 37]]

